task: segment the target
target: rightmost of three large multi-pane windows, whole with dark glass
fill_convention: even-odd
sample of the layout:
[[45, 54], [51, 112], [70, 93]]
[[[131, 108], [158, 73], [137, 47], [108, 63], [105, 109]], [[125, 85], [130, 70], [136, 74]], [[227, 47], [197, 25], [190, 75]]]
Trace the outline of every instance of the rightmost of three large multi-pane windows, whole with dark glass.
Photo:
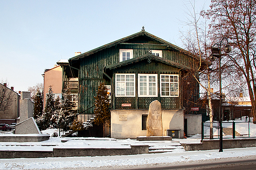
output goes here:
[[160, 96], [179, 97], [179, 75], [160, 74]]

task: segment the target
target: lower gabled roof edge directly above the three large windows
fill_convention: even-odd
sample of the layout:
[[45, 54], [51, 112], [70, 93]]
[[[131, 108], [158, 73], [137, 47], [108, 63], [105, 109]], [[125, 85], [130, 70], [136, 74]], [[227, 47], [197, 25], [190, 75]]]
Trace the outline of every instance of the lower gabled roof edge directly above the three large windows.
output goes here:
[[112, 69], [120, 68], [122, 66], [133, 64], [133, 63], [136, 63], [136, 62], [139, 62], [139, 61], [142, 61], [142, 60], [146, 60], [146, 59], [148, 60], [149, 63], [151, 62], [151, 60], [155, 60], [155, 61], [158, 61], [160, 63], [166, 64], [166, 65], [178, 68], [178, 69], [191, 70], [191, 68], [189, 68], [187, 66], [184, 66], [182, 64], [167, 60], [165, 58], [158, 57], [158, 56], [153, 55], [151, 53], [146, 53], [146, 54], [144, 54], [142, 56], [139, 56], [139, 57], [136, 57], [136, 58], [132, 58], [132, 59], [129, 59], [129, 60], [126, 60], [126, 61], [122, 61], [120, 63], [115, 63], [115, 64], [112, 64], [112, 65], [106, 66], [106, 69], [112, 70]]

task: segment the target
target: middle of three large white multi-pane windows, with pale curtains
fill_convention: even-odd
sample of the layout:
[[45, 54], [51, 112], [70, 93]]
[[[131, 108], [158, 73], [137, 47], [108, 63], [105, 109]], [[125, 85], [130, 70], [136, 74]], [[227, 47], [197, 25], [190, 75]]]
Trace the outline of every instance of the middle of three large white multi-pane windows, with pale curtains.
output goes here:
[[138, 96], [158, 97], [158, 74], [138, 74]]

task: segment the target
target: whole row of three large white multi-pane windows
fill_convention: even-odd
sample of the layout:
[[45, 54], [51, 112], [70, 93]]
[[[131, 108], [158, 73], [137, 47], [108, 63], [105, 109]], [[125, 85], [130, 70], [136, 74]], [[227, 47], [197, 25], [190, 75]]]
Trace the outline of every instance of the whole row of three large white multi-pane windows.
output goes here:
[[[179, 97], [179, 75], [160, 74], [160, 97]], [[116, 73], [116, 97], [135, 97], [135, 73]], [[138, 74], [138, 97], [158, 97], [158, 74]]]

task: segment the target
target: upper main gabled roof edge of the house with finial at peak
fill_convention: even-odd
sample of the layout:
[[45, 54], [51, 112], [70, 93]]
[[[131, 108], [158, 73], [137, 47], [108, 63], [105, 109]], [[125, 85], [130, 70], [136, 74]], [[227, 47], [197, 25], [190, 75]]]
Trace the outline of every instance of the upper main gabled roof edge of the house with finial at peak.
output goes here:
[[167, 47], [169, 47], [169, 48], [171, 48], [173, 50], [177, 50], [177, 51], [179, 51], [181, 53], [184, 53], [186, 55], [189, 55], [189, 56], [199, 60], [199, 58], [197, 56], [193, 55], [191, 52], [189, 52], [189, 51], [187, 51], [185, 49], [179, 48], [178, 46], [175, 46], [175, 45], [173, 45], [173, 44], [171, 44], [171, 43], [169, 43], [169, 42], [167, 42], [167, 41], [165, 41], [165, 40], [163, 40], [163, 39], [161, 39], [161, 38], [159, 38], [159, 37], [157, 37], [157, 36], [155, 36], [153, 34], [150, 34], [150, 33], [146, 32], [144, 29], [142, 29], [140, 32], [137, 32], [137, 33], [132, 34], [130, 36], [127, 36], [125, 38], [121, 38], [121, 39], [119, 39], [117, 41], [114, 41], [112, 43], [108, 43], [108, 44], [106, 44], [104, 46], [101, 46], [101, 47], [98, 47], [96, 49], [92, 49], [90, 51], [84, 52], [84, 53], [82, 53], [80, 55], [74, 56], [74, 57], [70, 58], [69, 61], [78, 60], [80, 58], [84, 58], [84, 57], [86, 57], [88, 55], [91, 55], [93, 53], [96, 53], [96, 52], [98, 52], [98, 51], [100, 51], [102, 49], [107, 49], [107, 48], [113, 47], [113, 46], [115, 46], [117, 44], [124, 43], [124, 42], [128, 41], [129, 39], [133, 39], [133, 38], [141, 36], [141, 35], [145, 35], [147, 37], [150, 37], [150, 38], [152, 38], [152, 39], [154, 39], [154, 40], [156, 40], [156, 41], [166, 45]]

